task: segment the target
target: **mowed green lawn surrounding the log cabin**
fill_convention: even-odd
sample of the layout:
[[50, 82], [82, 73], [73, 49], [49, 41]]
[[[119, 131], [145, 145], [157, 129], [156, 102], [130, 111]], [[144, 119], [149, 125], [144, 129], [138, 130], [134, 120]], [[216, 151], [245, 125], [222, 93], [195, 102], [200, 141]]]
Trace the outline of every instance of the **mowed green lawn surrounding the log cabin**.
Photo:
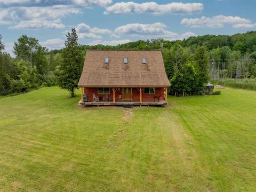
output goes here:
[[256, 191], [256, 91], [221, 91], [167, 108], [1, 98], [0, 191]]

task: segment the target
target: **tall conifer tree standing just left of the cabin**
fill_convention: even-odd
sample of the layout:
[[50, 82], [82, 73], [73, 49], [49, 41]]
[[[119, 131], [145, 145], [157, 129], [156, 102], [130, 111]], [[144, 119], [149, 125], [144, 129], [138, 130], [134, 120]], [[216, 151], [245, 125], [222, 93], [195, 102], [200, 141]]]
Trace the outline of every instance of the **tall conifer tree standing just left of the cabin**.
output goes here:
[[65, 49], [62, 51], [62, 63], [59, 67], [58, 84], [62, 89], [70, 91], [71, 97], [75, 97], [74, 90], [83, 68], [83, 55], [77, 43], [78, 36], [75, 28], [66, 35]]

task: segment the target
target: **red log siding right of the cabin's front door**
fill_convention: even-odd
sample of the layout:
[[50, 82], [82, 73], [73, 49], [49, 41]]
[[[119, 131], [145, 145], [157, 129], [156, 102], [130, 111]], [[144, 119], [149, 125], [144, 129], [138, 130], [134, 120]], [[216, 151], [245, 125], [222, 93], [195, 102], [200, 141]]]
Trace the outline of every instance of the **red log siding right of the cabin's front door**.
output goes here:
[[[141, 96], [142, 96], [142, 102], [143, 102], [143, 100], [154, 100], [154, 95], [161, 95], [161, 97], [160, 97], [160, 99], [159, 100], [164, 100], [164, 88], [163, 87], [156, 87], [156, 94], [144, 94], [143, 93], [144, 91], [143, 91], [143, 89], [142, 89], [142, 91], [141, 91]], [[133, 88], [132, 89], [132, 99], [133, 100], [140, 100], [140, 88]]]

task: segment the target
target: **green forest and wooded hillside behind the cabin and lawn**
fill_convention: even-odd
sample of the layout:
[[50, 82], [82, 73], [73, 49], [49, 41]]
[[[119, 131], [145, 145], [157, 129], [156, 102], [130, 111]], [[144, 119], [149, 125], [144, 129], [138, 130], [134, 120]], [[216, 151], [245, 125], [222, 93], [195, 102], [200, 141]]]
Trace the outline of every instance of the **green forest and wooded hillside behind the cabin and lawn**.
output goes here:
[[[197, 93], [209, 79], [256, 77], [256, 31], [189, 37], [182, 41], [151, 39], [117, 46], [81, 45], [80, 49], [83, 55], [88, 49], [161, 49], [173, 94]], [[23, 35], [14, 43], [12, 58], [4, 51], [0, 36], [0, 94], [56, 85], [61, 52], [48, 51], [37, 39]]]

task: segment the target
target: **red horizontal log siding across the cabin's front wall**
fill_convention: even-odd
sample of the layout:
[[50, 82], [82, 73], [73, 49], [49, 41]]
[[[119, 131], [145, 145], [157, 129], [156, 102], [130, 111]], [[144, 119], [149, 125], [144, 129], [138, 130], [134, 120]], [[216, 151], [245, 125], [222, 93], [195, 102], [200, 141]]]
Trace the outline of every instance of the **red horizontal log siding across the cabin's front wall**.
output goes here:
[[[99, 95], [105, 95], [105, 94], [98, 94], [98, 88], [97, 87], [84, 87], [84, 93], [87, 94], [87, 100], [93, 101], [92, 93], [95, 93], [96, 96], [99, 97]], [[161, 95], [162, 94], [162, 95]], [[122, 95], [122, 88], [118, 88], [115, 92], [115, 99], [118, 101], [119, 95]], [[164, 88], [163, 87], [156, 87], [156, 94], [143, 94], [142, 89], [142, 102], [143, 100], [154, 100], [154, 95], [161, 95], [160, 100], [164, 100]], [[109, 97], [113, 99], [113, 90], [110, 87], [110, 94]], [[140, 100], [140, 88], [132, 88], [132, 100], [139, 101]]]

